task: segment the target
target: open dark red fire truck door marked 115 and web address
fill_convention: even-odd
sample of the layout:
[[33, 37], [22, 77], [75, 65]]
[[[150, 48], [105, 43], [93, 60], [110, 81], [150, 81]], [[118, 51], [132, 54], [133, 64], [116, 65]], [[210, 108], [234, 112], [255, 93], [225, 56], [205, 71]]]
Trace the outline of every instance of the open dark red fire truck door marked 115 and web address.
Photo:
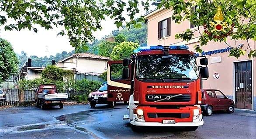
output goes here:
[[107, 62], [107, 101], [129, 101], [131, 80], [122, 78], [123, 61]]

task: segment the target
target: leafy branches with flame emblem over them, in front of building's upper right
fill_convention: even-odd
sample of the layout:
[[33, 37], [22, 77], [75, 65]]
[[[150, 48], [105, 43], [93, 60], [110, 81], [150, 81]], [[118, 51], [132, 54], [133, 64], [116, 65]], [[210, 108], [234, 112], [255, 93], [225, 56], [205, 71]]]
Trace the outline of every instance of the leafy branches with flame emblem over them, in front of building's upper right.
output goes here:
[[[234, 41], [247, 40], [248, 56], [256, 57], [256, 50], [249, 45], [250, 39], [256, 40], [255, 0], [161, 0], [157, 5], [158, 8], [172, 9], [172, 19], [176, 23], [189, 20], [194, 26], [203, 26], [204, 32], [198, 30], [201, 34], [201, 46], [209, 41], [224, 41], [230, 46], [226, 42], [227, 37], [230, 36]], [[193, 8], [195, 10], [191, 12]], [[237, 31], [233, 31], [234, 29]], [[194, 31], [190, 29], [176, 34], [176, 38], [181, 38], [183, 41], [189, 41], [193, 36]], [[201, 46], [196, 45], [195, 50], [201, 52]], [[235, 47], [230, 51], [229, 56], [238, 58], [244, 54], [242, 49]]]

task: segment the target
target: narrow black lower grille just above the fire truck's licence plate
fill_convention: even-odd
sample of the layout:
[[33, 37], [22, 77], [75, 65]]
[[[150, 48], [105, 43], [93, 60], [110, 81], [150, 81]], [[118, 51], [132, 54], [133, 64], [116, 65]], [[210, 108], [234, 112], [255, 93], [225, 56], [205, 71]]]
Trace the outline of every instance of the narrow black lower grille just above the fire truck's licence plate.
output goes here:
[[190, 113], [148, 113], [149, 118], [189, 118]]

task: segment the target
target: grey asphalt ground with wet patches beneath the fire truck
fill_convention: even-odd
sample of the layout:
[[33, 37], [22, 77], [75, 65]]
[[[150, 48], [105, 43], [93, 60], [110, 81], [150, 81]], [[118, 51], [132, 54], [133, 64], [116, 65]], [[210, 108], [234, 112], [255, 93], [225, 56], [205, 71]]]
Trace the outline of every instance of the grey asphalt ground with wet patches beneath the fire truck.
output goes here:
[[255, 139], [256, 113], [235, 111], [204, 117], [196, 131], [176, 128], [143, 128], [133, 132], [126, 105], [114, 109], [99, 105], [64, 106], [41, 110], [14, 107], [0, 110], [0, 139]]

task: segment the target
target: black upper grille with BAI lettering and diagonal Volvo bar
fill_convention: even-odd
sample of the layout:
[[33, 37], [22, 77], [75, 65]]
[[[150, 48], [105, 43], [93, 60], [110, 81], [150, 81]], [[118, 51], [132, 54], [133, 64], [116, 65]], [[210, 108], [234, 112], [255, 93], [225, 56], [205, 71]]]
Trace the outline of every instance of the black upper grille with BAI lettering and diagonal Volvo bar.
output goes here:
[[[176, 96], [178, 95], [178, 96]], [[188, 102], [190, 101], [190, 94], [148, 94], [146, 101], [148, 102]]]

